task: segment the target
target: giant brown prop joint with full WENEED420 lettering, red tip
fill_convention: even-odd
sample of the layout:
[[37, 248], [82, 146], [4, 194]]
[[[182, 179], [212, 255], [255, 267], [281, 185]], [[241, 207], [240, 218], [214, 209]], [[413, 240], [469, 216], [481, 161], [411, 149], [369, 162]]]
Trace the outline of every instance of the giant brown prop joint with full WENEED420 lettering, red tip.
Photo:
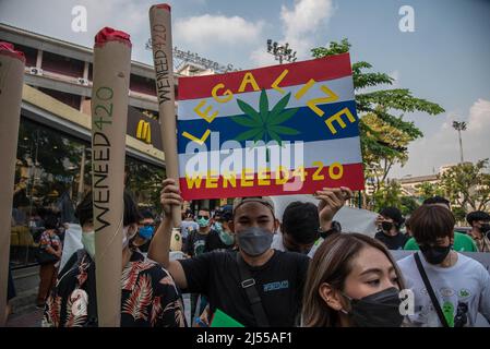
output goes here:
[[98, 325], [121, 316], [122, 217], [131, 41], [104, 28], [95, 37], [92, 88], [92, 194]]

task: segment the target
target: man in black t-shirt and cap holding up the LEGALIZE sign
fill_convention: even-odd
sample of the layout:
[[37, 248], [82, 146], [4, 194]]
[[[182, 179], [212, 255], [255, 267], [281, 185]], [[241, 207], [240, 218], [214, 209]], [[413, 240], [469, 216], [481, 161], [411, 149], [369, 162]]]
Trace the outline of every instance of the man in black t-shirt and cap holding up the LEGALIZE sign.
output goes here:
[[[166, 179], [163, 185], [160, 197], [166, 219], [152, 241], [148, 256], [168, 269], [183, 292], [205, 294], [211, 314], [219, 309], [244, 326], [258, 326], [244, 288], [249, 285], [255, 287], [271, 326], [297, 325], [309, 258], [296, 252], [271, 249], [273, 233], [278, 228], [272, 200], [261, 196], [236, 200], [230, 228], [236, 233], [238, 252], [211, 252], [170, 262], [165, 253], [170, 243], [170, 212], [171, 206], [180, 205], [182, 198], [175, 180]], [[318, 195], [325, 200], [327, 194], [321, 191]], [[238, 254], [253, 282], [242, 282]]]

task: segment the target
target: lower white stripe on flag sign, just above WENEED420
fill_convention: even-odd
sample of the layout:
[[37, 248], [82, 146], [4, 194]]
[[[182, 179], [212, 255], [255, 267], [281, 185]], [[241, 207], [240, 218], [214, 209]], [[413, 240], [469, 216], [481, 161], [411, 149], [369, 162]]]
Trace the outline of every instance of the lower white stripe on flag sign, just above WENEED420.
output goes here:
[[[237, 147], [231, 147], [232, 143]], [[360, 140], [358, 136], [349, 139], [339, 139], [331, 141], [316, 142], [295, 142], [285, 143], [282, 147], [276, 142], [270, 142], [271, 163], [265, 161], [265, 146], [247, 146], [238, 147], [238, 142], [229, 143], [230, 147], [226, 147], [226, 143], [222, 145], [220, 151], [207, 152], [205, 144], [199, 145], [195, 142], [189, 142], [187, 154], [179, 154], [179, 177], [188, 176], [205, 177], [210, 170], [212, 174], [224, 174], [229, 170], [234, 173], [241, 173], [243, 168], [259, 170], [262, 168], [277, 168], [283, 166], [287, 169], [297, 169], [299, 166], [304, 168], [319, 167], [313, 164], [319, 159], [322, 166], [330, 166], [334, 163], [339, 164], [359, 164], [362, 157], [359, 152]], [[225, 146], [224, 146], [225, 145]]]

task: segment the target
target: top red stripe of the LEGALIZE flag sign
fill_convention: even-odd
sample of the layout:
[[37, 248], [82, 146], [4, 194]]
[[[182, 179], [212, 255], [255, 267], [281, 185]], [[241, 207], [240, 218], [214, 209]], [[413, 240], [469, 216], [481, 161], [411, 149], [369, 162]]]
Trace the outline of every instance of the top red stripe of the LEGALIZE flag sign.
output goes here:
[[[285, 70], [288, 72], [282, 76]], [[303, 62], [244, 70], [227, 74], [179, 77], [179, 100], [208, 98], [211, 97], [211, 92], [217, 84], [225, 85], [223, 88], [216, 91], [216, 94], [222, 96], [227, 89], [234, 94], [238, 93], [238, 89], [244, 81], [250, 81], [250, 83], [246, 84], [242, 92], [252, 92], [255, 91], [253, 81], [256, 82], [256, 86], [261, 91], [272, 88], [274, 82], [277, 83], [278, 87], [286, 87], [306, 84], [310, 79], [325, 81], [351, 74], [349, 53], [342, 53]]]

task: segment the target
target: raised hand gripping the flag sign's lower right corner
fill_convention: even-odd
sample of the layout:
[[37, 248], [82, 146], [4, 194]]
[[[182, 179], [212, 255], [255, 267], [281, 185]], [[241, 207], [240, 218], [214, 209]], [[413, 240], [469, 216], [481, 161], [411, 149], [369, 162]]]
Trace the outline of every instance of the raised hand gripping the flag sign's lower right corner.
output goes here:
[[352, 192], [346, 186], [323, 188], [314, 193], [320, 198], [319, 215], [320, 227], [323, 230], [331, 229], [335, 214], [344, 206], [345, 202], [352, 197]]

